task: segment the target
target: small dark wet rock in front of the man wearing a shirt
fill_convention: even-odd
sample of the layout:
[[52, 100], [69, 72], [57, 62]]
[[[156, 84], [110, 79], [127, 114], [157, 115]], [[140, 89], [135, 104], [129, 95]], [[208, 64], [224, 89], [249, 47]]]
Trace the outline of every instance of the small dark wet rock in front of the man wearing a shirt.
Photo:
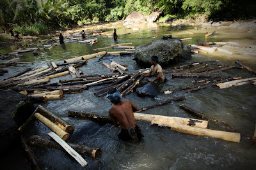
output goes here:
[[136, 94], [140, 97], [157, 97], [159, 92], [159, 87], [157, 83], [149, 82], [143, 87], [136, 89]]

